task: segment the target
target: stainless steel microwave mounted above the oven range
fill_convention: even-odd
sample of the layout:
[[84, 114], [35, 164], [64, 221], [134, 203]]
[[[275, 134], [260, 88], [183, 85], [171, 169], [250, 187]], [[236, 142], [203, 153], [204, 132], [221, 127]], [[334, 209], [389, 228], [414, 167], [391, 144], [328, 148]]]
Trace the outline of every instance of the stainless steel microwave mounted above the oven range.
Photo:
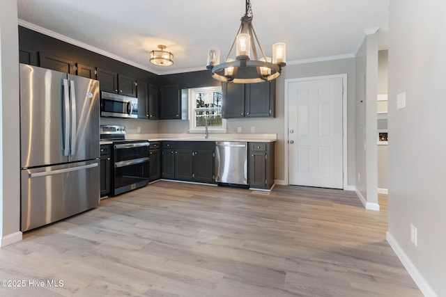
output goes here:
[[115, 118], [138, 118], [138, 98], [102, 91], [100, 115]]

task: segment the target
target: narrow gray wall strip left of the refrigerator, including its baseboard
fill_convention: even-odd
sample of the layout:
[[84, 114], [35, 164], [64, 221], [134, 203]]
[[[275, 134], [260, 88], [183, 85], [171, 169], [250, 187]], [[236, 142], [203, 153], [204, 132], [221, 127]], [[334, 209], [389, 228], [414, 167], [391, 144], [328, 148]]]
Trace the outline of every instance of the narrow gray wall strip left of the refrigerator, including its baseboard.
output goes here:
[[19, 36], [17, 1], [0, 1], [0, 240], [20, 232]]

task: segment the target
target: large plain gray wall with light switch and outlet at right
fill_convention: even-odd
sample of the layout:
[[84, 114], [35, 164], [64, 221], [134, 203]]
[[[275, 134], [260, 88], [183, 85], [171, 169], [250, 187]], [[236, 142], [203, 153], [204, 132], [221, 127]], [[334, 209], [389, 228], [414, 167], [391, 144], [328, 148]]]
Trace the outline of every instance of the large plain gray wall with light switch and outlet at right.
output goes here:
[[[438, 296], [446, 296], [445, 11], [443, 0], [392, 0], [388, 38], [389, 236]], [[406, 109], [397, 110], [402, 92]]]

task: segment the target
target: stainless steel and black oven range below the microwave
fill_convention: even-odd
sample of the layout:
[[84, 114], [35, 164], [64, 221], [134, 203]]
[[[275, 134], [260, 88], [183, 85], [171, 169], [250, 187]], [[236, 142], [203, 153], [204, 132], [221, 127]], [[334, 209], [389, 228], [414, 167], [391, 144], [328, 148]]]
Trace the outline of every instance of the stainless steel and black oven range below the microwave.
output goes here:
[[112, 195], [119, 195], [149, 182], [149, 145], [145, 140], [125, 140], [125, 127], [101, 126], [101, 140], [112, 141]]

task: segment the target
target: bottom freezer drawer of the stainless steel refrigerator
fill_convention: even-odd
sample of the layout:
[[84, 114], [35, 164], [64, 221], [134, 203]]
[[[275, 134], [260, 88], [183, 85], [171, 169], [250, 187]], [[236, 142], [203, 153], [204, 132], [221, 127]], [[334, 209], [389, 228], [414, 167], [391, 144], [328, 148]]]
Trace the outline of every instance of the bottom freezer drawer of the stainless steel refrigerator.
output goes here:
[[22, 232], [99, 204], [99, 161], [22, 170]]

